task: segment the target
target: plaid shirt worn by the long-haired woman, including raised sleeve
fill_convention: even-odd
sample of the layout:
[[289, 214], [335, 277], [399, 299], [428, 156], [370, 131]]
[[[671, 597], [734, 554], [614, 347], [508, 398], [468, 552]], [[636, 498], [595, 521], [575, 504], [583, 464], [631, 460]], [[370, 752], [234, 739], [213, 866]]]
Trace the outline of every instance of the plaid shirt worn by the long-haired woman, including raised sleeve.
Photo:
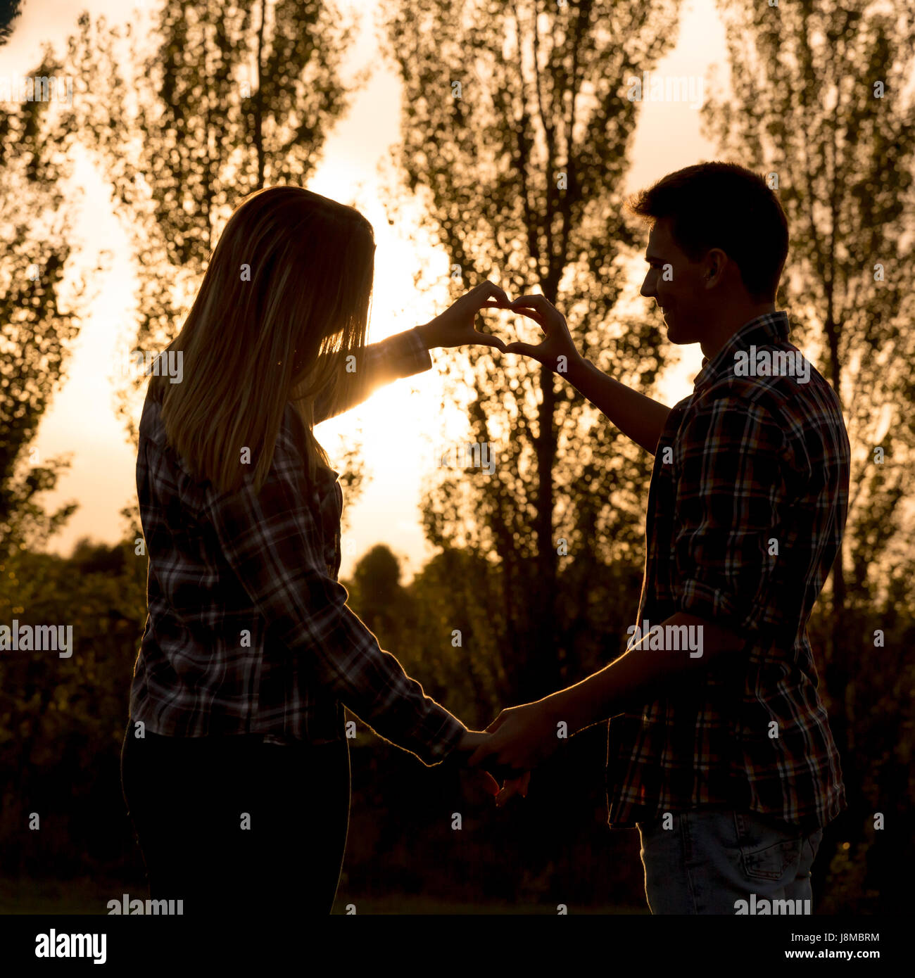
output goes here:
[[[365, 348], [362, 389], [431, 366], [419, 334], [399, 333]], [[147, 397], [137, 494], [149, 615], [131, 720], [167, 736], [262, 733], [317, 744], [343, 740], [344, 704], [435, 764], [466, 728], [346, 607], [337, 581], [343, 493], [336, 472], [308, 482], [300, 428], [289, 406], [259, 495], [253, 465], [240, 491], [219, 493], [188, 474]]]

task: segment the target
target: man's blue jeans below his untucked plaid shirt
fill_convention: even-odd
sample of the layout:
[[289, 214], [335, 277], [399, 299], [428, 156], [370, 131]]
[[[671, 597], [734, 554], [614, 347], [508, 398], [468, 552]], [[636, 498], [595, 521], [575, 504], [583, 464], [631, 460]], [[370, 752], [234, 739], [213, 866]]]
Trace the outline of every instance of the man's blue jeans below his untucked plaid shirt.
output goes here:
[[[813, 832], [755, 812], [682, 812], [637, 822], [645, 894], [652, 913], [737, 912], [737, 901], [811, 900], [810, 867], [822, 828]], [[794, 904], [809, 912], [812, 904]], [[788, 912], [779, 905], [777, 912]], [[745, 910], [744, 912], [753, 912]]]

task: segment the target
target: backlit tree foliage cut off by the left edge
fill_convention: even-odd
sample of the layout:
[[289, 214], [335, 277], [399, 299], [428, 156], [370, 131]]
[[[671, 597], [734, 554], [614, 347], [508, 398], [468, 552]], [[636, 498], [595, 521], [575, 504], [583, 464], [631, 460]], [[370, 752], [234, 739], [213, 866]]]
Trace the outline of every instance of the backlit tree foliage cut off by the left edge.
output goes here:
[[[34, 74], [56, 67], [46, 55]], [[73, 212], [63, 189], [70, 161], [60, 152], [54, 108], [40, 100], [0, 107], [0, 559], [42, 546], [76, 508], [43, 509], [38, 495], [57, 485], [68, 463], [42, 461], [30, 450], [66, 377], [69, 342], [79, 332], [75, 310], [85, 296], [82, 281], [65, 297]]]

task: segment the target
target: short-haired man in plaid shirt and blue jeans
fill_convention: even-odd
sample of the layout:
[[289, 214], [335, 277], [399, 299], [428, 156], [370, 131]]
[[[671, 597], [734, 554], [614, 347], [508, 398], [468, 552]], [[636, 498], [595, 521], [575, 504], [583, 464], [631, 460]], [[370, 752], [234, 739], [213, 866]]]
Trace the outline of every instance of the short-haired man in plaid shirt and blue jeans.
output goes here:
[[[788, 229], [762, 179], [703, 163], [629, 206], [652, 224], [642, 294], [671, 342], [702, 344], [693, 393], [668, 409], [607, 377], [539, 295], [512, 307], [545, 339], [507, 350], [566, 366], [655, 454], [639, 631], [600, 672], [503, 710], [470, 763], [527, 772], [561, 742], [558, 723], [575, 733], [612, 718], [609, 822], [639, 829], [652, 912], [809, 901], [823, 827], [846, 807], [805, 631], [846, 522], [839, 399], [775, 310]], [[500, 803], [519, 790], [526, 776]]]

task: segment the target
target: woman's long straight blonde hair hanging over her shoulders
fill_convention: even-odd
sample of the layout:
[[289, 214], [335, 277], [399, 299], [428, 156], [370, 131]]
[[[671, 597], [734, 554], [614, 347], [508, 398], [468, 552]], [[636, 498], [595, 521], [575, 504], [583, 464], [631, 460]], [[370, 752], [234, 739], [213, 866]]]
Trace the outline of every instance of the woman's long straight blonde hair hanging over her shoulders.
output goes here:
[[361, 359], [374, 270], [372, 225], [353, 207], [300, 187], [259, 190], [238, 206], [166, 347], [182, 354], [181, 382], [150, 380], [168, 441], [193, 474], [234, 491], [247, 447], [259, 492], [291, 402], [309, 478], [329, 467], [311, 430], [314, 403], [326, 398], [333, 413], [357, 382], [346, 358]]

